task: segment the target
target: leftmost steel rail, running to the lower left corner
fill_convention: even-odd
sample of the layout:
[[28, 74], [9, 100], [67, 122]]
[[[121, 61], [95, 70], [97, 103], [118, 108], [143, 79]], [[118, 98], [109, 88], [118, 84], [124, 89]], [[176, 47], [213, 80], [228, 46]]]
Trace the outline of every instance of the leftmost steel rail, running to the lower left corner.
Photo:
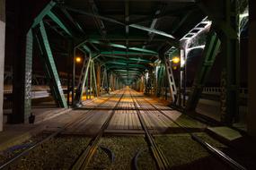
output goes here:
[[[98, 106], [102, 106], [103, 104], [105, 104], [110, 98], [116, 96], [117, 94], [115, 93], [114, 95], [111, 95], [109, 98], [103, 100]], [[98, 106], [94, 106], [93, 108], [91, 108], [90, 110], [88, 110], [86, 112], [86, 115], [88, 115], [89, 113], [93, 112], [93, 110], [95, 110]], [[36, 142], [34, 145], [32, 145], [31, 147], [29, 147], [28, 149], [23, 150], [21, 153], [15, 155], [14, 157], [8, 159], [6, 162], [4, 162], [4, 164], [2, 164], [0, 166], [0, 170], [3, 169], [7, 169], [9, 166], [12, 166], [14, 163], [16, 163], [21, 157], [26, 156], [28, 153], [31, 152], [31, 150], [37, 148], [38, 146], [40, 146], [41, 144], [43, 144], [44, 142], [56, 137], [58, 134], [60, 134], [61, 132], [64, 132], [66, 130], [67, 127], [73, 125], [74, 123], [77, 122], [81, 122], [84, 121], [84, 119], [86, 118], [85, 115], [80, 115], [78, 117], [75, 118], [75, 120], [70, 121], [68, 123], [66, 123], [64, 125], [64, 127], [59, 128], [59, 130], [57, 132], [53, 132], [52, 134], [50, 134], [48, 137], [44, 138], [43, 140], [40, 140], [38, 142]]]

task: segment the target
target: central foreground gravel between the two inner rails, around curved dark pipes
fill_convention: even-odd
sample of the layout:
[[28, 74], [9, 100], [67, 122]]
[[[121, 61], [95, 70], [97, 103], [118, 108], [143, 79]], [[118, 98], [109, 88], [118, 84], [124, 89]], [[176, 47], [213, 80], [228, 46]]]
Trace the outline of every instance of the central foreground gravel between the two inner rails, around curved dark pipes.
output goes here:
[[146, 151], [142, 152], [137, 159], [139, 169], [156, 169], [154, 158], [150, 155], [144, 137], [103, 137], [100, 145], [114, 153], [114, 163], [111, 165], [105, 152], [98, 149], [88, 169], [133, 169], [132, 159], [140, 149], [146, 149]]

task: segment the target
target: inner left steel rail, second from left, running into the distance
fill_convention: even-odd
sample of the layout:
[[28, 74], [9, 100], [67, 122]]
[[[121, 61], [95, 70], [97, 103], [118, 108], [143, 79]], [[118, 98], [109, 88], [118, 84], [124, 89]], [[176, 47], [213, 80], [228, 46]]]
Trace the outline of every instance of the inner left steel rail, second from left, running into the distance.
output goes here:
[[93, 157], [93, 155], [94, 155], [95, 151], [97, 150], [98, 145], [99, 145], [99, 143], [102, 139], [104, 131], [107, 129], [108, 125], [110, 124], [110, 121], [111, 121], [113, 115], [115, 114], [115, 112], [116, 112], [116, 110], [119, 106], [119, 103], [120, 103], [121, 99], [123, 98], [124, 94], [125, 94], [125, 92], [123, 92], [123, 94], [119, 98], [119, 101], [117, 102], [115, 107], [112, 109], [112, 112], [110, 113], [110, 116], [102, 124], [102, 128], [101, 128], [100, 132], [98, 132], [98, 134], [93, 138], [93, 140], [91, 140], [88, 147], [84, 150], [84, 152], [81, 154], [81, 156], [77, 158], [77, 160], [75, 161], [75, 164], [72, 166], [71, 169], [73, 169], [73, 170], [86, 169], [86, 167], [89, 165], [90, 160]]

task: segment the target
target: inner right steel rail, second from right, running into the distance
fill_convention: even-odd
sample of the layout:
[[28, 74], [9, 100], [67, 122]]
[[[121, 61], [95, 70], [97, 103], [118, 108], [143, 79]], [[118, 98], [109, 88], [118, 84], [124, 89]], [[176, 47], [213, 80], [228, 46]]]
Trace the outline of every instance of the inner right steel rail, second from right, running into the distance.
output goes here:
[[[129, 92], [130, 92], [130, 90], [129, 90]], [[161, 170], [162, 169], [163, 170], [164, 169], [170, 169], [170, 165], [169, 165], [169, 163], [167, 161], [167, 158], [163, 155], [163, 151], [158, 148], [157, 144], [154, 141], [153, 136], [151, 135], [151, 133], [149, 132], [149, 130], [146, 127], [146, 122], [145, 122], [143, 116], [141, 115], [139, 108], [137, 107], [137, 103], [140, 106], [139, 102], [137, 102], [133, 98], [131, 93], [130, 93], [130, 97], [132, 98], [134, 106], [137, 108], [138, 119], [139, 119], [139, 121], [140, 121], [140, 123], [142, 125], [143, 130], [146, 133], [146, 140], [148, 141], [149, 147], [150, 147], [150, 149], [151, 149], [151, 151], [153, 153], [153, 156], [154, 156], [154, 159], [156, 161], [156, 164], [157, 164], [158, 168], [161, 169]]]

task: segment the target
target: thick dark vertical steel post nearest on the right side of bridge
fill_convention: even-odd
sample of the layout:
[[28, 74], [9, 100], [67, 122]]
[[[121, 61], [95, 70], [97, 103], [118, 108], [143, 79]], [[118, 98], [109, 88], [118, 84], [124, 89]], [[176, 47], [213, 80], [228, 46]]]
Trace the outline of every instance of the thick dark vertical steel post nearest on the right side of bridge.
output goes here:
[[239, 89], [240, 89], [240, 39], [239, 39], [239, 3], [238, 1], [225, 1], [225, 25], [234, 30], [230, 35], [223, 30], [225, 36], [222, 42], [222, 75], [221, 87], [221, 120], [232, 124], [238, 121], [239, 115]]

